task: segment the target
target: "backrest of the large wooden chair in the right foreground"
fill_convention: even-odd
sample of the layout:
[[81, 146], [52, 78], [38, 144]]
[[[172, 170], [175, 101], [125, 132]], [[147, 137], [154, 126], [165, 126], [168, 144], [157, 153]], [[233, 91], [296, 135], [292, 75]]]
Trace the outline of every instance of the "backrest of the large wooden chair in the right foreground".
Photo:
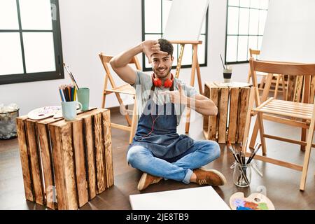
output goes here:
[[[315, 75], [315, 64], [266, 62], [266, 61], [255, 60], [253, 57], [249, 59], [249, 64], [251, 68], [251, 78], [253, 81], [253, 85], [256, 88], [256, 92], [258, 92], [258, 82], [257, 82], [256, 71], [272, 73], [272, 74], [287, 74], [290, 76], [304, 76], [303, 102], [309, 102], [311, 76]], [[314, 96], [314, 94], [311, 94], [311, 96]], [[313, 100], [311, 100], [311, 102], [313, 102]], [[260, 105], [259, 97], [258, 97], [258, 100], [256, 99], [256, 104]]]

